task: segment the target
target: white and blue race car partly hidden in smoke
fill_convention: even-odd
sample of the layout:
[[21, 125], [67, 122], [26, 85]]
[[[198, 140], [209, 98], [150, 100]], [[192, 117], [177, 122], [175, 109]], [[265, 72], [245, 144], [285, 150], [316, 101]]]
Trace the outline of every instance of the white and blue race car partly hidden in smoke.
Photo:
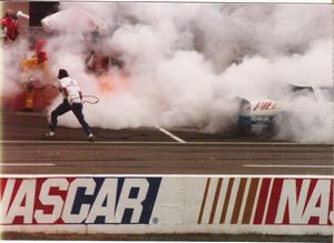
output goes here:
[[[239, 99], [237, 131], [239, 134], [274, 136], [279, 130], [279, 122], [292, 120], [294, 114], [292, 103], [302, 97], [308, 97], [314, 102], [334, 101], [333, 87], [297, 87], [289, 85], [286, 95], [276, 99]], [[298, 108], [299, 109], [299, 108]], [[307, 108], [304, 108], [307, 109]], [[297, 112], [295, 112], [297, 113]], [[294, 118], [295, 119], [295, 118]]]

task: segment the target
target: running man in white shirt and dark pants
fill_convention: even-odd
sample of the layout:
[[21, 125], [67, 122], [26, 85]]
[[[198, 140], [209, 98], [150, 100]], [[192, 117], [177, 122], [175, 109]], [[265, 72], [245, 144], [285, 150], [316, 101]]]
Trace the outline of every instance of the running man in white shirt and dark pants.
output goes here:
[[82, 94], [77, 81], [71, 79], [65, 69], [60, 69], [58, 73], [59, 90], [63, 94], [63, 101], [51, 112], [50, 131], [45, 133], [47, 138], [55, 136], [58, 117], [68, 111], [72, 111], [80, 122], [88, 140], [94, 142], [94, 135], [82, 114]]

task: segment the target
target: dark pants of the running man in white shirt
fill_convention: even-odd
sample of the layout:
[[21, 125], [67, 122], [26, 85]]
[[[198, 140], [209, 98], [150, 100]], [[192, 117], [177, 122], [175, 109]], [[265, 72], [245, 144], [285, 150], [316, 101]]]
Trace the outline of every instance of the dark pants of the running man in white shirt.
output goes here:
[[58, 123], [58, 117], [65, 114], [68, 111], [72, 111], [75, 115], [77, 117], [78, 121], [80, 122], [85, 133], [89, 135], [91, 133], [89, 125], [85, 121], [84, 114], [82, 114], [82, 104], [81, 103], [72, 103], [70, 105], [68, 101], [65, 99], [61, 104], [56, 108], [51, 113], [51, 124], [50, 130], [52, 132], [56, 131], [57, 123]]

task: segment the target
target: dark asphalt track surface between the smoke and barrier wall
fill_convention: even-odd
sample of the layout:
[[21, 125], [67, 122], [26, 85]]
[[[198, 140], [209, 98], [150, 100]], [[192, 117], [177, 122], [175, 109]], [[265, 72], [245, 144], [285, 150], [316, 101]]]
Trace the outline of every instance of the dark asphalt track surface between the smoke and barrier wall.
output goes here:
[[[206, 134], [195, 129], [59, 128], [46, 140], [42, 113], [2, 111], [2, 174], [228, 174], [325, 175], [334, 173], [333, 144], [296, 144]], [[60, 118], [61, 119], [61, 118]]]

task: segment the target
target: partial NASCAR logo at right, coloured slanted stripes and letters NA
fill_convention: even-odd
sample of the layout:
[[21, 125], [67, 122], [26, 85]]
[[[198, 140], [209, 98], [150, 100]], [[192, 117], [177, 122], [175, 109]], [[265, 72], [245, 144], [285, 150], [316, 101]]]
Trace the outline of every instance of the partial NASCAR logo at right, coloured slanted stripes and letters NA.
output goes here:
[[334, 180], [207, 179], [198, 224], [333, 225]]

